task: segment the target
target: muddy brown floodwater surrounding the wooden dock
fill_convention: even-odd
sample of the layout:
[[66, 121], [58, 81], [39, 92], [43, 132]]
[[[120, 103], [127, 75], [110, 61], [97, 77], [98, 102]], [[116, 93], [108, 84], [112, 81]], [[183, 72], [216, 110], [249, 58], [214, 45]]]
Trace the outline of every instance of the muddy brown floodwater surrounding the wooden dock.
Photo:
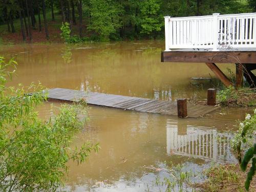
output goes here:
[[[17, 75], [9, 83], [40, 81], [47, 88], [173, 100], [202, 101], [218, 83], [203, 63], [161, 63], [163, 41], [2, 46], [0, 55], [15, 57]], [[234, 70], [231, 64], [221, 69]], [[193, 77], [210, 78], [192, 80]], [[56, 106], [58, 102], [53, 103]], [[38, 110], [49, 117], [51, 102]], [[175, 116], [90, 106], [90, 121], [72, 146], [100, 143], [82, 165], [69, 162], [67, 191], [159, 191], [156, 180], [170, 176], [172, 164], [200, 173], [211, 162], [236, 162], [227, 142], [250, 109], [220, 109], [205, 117]], [[195, 180], [200, 180], [200, 174]], [[188, 189], [189, 190], [189, 189]]]

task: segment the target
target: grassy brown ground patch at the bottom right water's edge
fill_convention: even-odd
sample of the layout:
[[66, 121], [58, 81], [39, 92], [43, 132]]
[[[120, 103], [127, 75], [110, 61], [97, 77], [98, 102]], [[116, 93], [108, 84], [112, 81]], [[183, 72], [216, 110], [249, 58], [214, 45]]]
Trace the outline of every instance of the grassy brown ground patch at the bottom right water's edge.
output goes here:
[[[215, 165], [205, 170], [207, 179], [203, 183], [193, 184], [198, 191], [246, 191], [244, 183], [246, 172], [238, 164]], [[256, 179], [253, 178], [249, 191], [256, 191]]]

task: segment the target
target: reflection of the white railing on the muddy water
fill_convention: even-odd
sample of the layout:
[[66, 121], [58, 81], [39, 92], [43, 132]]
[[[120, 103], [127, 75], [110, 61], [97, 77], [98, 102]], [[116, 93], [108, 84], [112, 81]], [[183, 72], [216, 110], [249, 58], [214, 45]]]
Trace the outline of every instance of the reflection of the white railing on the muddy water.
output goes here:
[[182, 155], [211, 160], [213, 162], [233, 162], [229, 141], [232, 135], [218, 133], [216, 129], [187, 126], [186, 132], [180, 132], [177, 125], [166, 125], [168, 155]]

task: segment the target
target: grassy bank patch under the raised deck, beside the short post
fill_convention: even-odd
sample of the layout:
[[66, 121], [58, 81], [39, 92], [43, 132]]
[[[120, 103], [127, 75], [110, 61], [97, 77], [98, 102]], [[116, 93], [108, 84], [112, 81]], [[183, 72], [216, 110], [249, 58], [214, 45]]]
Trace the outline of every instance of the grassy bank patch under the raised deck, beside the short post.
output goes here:
[[230, 86], [217, 93], [217, 100], [222, 106], [256, 106], [256, 89]]

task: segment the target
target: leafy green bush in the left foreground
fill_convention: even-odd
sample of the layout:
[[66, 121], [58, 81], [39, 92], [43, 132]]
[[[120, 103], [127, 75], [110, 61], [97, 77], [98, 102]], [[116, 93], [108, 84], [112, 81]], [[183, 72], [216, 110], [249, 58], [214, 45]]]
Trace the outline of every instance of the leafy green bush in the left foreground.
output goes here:
[[39, 119], [34, 107], [46, 99], [41, 87], [32, 84], [25, 91], [5, 85], [15, 71], [7, 68], [15, 65], [0, 57], [0, 191], [54, 191], [68, 171], [66, 163], [83, 162], [98, 144], [71, 150], [74, 134], [86, 121], [86, 106], [65, 104], [48, 121]]

